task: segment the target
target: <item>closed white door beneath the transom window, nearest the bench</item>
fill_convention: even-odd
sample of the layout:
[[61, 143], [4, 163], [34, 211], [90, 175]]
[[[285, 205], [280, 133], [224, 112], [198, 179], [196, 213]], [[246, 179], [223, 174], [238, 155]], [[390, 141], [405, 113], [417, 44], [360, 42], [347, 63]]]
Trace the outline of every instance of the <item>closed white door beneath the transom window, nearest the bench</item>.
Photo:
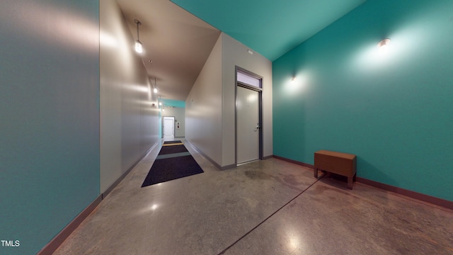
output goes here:
[[236, 136], [237, 164], [259, 159], [259, 92], [237, 86]]

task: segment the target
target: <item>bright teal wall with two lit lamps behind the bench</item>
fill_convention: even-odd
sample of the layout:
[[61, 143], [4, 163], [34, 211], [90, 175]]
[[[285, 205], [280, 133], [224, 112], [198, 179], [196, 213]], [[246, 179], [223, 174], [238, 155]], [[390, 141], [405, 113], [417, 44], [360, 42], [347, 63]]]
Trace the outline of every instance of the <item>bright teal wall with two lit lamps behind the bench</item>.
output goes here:
[[368, 0], [275, 60], [273, 153], [357, 154], [357, 176], [453, 200], [452, 13], [451, 0]]

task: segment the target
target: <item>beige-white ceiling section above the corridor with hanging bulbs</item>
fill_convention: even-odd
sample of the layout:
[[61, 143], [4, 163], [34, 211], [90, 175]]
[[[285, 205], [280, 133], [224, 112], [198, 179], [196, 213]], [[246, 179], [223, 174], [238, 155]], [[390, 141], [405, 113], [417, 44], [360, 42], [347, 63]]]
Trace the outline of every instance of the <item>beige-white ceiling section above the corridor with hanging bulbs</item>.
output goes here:
[[[117, 0], [161, 98], [185, 101], [220, 31], [168, 0]], [[151, 60], [152, 62], [149, 62]]]

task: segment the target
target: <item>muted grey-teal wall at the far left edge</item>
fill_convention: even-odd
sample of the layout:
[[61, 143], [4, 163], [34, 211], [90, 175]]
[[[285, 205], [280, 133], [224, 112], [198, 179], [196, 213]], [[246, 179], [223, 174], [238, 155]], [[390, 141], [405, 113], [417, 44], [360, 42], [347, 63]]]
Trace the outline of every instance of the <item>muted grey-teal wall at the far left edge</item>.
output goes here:
[[98, 1], [0, 1], [0, 254], [36, 254], [99, 195]]

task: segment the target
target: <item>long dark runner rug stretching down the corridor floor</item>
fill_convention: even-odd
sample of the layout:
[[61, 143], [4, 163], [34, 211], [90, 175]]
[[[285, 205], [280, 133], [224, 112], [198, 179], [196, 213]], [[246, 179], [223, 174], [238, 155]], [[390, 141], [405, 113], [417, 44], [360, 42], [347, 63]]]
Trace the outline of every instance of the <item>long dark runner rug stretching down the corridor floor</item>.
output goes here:
[[156, 183], [201, 174], [203, 170], [181, 141], [164, 142], [142, 188]]

